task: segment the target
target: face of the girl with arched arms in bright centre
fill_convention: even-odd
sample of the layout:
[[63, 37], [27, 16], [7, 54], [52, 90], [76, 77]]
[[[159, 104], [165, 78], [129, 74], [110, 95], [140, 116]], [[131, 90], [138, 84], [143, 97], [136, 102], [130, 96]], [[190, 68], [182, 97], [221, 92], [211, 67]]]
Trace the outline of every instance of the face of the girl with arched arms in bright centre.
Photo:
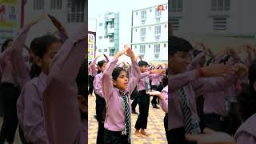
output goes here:
[[113, 80], [113, 84], [119, 90], [126, 90], [128, 88], [128, 78], [126, 71], [121, 71], [117, 80]]

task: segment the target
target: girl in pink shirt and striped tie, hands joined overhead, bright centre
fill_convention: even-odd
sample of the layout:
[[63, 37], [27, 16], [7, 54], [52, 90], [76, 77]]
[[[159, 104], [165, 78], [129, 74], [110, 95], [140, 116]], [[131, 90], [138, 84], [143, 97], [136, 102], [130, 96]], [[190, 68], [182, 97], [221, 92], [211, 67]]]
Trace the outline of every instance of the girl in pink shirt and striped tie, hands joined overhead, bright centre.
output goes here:
[[[130, 79], [126, 70], [116, 67], [118, 58], [126, 54], [132, 62]], [[106, 65], [102, 75], [102, 92], [106, 100], [106, 119], [104, 122], [104, 141], [106, 144], [130, 143], [130, 94], [140, 78], [140, 70], [134, 52], [125, 46]]]

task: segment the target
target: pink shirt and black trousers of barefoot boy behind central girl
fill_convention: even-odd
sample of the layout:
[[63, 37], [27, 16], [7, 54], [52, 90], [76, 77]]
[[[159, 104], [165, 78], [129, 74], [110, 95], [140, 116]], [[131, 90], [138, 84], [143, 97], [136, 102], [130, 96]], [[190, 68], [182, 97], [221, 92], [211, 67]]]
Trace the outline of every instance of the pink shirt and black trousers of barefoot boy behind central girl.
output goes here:
[[158, 78], [161, 74], [150, 74], [150, 71], [142, 73], [138, 81], [138, 106], [139, 114], [135, 124], [135, 129], [146, 129], [147, 117], [150, 109], [150, 96], [146, 94], [147, 90], [150, 90], [150, 78]]

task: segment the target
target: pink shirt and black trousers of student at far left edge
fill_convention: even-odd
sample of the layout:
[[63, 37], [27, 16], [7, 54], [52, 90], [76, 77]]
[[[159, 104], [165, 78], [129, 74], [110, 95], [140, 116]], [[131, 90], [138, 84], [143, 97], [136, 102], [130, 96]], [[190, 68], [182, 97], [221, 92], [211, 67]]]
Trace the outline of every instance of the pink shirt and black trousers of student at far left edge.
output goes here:
[[25, 59], [22, 56], [23, 44], [26, 41], [30, 26], [25, 26], [20, 31], [14, 45], [0, 54], [2, 65], [2, 95], [4, 102], [4, 122], [0, 133], [0, 142], [14, 142], [15, 132], [18, 126], [16, 102], [20, 94], [21, 86], [29, 78], [26, 71]]

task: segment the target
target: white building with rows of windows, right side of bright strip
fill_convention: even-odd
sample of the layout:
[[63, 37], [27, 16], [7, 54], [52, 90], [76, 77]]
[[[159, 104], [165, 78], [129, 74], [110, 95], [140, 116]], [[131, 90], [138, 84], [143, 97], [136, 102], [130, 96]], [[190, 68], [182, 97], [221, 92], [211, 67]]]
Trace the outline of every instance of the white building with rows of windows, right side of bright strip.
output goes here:
[[167, 61], [168, 4], [132, 11], [131, 45], [146, 61]]

